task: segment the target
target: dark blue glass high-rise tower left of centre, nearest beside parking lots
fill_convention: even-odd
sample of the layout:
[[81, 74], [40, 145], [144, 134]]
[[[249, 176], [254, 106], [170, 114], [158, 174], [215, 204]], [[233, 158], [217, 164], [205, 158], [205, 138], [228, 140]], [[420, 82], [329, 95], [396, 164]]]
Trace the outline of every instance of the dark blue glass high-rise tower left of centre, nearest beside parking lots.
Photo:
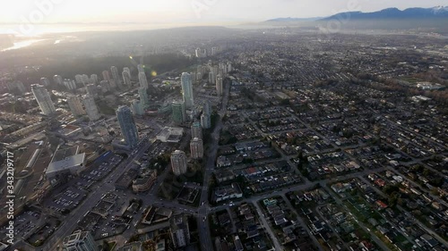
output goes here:
[[116, 118], [120, 124], [121, 133], [123, 138], [125, 138], [126, 145], [134, 149], [138, 144], [139, 137], [131, 109], [125, 105], [118, 107], [116, 110]]

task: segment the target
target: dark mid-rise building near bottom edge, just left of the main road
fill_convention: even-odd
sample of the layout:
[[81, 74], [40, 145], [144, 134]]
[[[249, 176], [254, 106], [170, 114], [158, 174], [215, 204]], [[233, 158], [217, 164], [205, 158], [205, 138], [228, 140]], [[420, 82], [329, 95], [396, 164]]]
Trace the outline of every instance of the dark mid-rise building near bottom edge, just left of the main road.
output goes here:
[[169, 225], [169, 234], [175, 248], [186, 247], [190, 244], [190, 228], [185, 213], [171, 217]]

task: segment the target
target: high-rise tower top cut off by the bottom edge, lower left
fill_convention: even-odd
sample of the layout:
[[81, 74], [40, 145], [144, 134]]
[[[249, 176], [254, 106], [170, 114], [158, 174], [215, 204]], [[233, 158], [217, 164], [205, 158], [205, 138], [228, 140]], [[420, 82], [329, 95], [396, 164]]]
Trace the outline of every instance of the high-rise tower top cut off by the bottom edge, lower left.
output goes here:
[[64, 251], [99, 251], [89, 231], [76, 230], [63, 239]]

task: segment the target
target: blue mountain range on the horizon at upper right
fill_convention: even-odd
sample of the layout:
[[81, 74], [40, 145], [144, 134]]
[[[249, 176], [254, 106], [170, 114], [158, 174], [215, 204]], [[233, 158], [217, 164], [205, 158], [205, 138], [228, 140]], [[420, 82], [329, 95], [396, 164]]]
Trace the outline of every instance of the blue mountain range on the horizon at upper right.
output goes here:
[[448, 19], [448, 6], [437, 6], [434, 8], [409, 8], [403, 11], [397, 8], [389, 8], [375, 13], [338, 13], [330, 17], [323, 18], [320, 21], [329, 21], [332, 19], [349, 19], [350, 21]]

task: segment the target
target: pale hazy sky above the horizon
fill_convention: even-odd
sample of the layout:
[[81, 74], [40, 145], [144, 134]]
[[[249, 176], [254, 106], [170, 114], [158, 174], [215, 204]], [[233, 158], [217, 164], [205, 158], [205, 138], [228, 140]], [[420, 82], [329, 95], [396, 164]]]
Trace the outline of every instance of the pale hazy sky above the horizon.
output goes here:
[[[433, 7], [446, 0], [2, 0], [0, 22], [218, 23]], [[38, 6], [42, 3], [45, 7]]]

